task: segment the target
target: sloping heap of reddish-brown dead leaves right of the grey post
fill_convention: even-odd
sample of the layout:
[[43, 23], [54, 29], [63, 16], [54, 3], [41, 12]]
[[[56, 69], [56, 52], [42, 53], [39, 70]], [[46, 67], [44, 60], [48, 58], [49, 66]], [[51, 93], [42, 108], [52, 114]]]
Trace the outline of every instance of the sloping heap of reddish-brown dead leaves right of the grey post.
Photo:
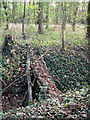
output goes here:
[[[44, 54], [45, 55], [45, 54]], [[38, 64], [37, 64], [38, 63]], [[40, 60], [36, 59], [34, 63], [32, 63], [34, 65], [34, 70], [37, 71], [37, 78], [38, 78], [38, 85], [40, 86], [40, 89], [42, 88], [46, 88], [47, 89], [44, 90], [44, 94], [46, 94], [47, 92], [49, 94], [47, 94], [47, 98], [52, 97], [57, 98], [58, 100], [62, 101], [61, 97], [60, 97], [60, 91], [56, 88], [55, 83], [52, 82], [52, 77], [50, 76], [49, 72], [48, 72], [48, 68], [45, 64], [44, 58], [43, 56], [40, 57]], [[49, 78], [47, 78], [49, 77]], [[45, 86], [41, 85], [40, 83], [44, 83]]]

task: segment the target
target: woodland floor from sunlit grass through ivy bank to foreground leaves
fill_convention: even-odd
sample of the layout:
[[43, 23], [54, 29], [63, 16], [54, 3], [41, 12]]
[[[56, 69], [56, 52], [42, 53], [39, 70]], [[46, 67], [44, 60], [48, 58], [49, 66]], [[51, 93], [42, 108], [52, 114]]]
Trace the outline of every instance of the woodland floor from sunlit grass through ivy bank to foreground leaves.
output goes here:
[[62, 102], [40, 99], [40, 102], [34, 101], [33, 105], [30, 104], [25, 108], [14, 107], [13, 110], [2, 114], [3, 119], [88, 119], [90, 96], [85, 26], [76, 25], [75, 32], [72, 31], [70, 24], [66, 26], [64, 51], [61, 50], [59, 26], [50, 26], [44, 34], [38, 34], [37, 27], [30, 25], [29, 28], [26, 25], [26, 40], [21, 38], [20, 24], [13, 25], [13, 29], [4, 33], [6, 32], [13, 35], [17, 43], [30, 44], [35, 48], [35, 54], [38, 57], [48, 50], [44, 60], [52, 81], [61, 91]]

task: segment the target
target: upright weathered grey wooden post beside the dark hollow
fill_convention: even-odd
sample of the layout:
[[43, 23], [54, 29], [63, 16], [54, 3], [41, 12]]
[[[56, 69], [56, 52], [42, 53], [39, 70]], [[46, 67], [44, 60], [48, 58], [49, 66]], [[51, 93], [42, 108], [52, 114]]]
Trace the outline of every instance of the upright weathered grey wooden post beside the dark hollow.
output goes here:
[[30, 54], [27, 53], [27, 65], [26, 65], [26, 74], [27, 74], [27, 81], [28, 81], [28, 96], [29, 101], [32, 101], [32, 83], [31, 83], [31, 75], [30, 75]]

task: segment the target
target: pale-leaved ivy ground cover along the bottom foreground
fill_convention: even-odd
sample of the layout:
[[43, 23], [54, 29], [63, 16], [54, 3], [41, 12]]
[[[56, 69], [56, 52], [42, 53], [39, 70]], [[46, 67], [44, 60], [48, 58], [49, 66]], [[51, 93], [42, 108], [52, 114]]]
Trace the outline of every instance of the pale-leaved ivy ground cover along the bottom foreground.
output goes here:
[[13, 107], [13, 110], [2, 113], [3, 119], [53, 119], [62, 120], [89, 120], [89, 95], [88, 89], [67, 91], [61, 94], [62, 103], [57, 99], [40, 98], [39, 102], [34, 101], [26, 107]]

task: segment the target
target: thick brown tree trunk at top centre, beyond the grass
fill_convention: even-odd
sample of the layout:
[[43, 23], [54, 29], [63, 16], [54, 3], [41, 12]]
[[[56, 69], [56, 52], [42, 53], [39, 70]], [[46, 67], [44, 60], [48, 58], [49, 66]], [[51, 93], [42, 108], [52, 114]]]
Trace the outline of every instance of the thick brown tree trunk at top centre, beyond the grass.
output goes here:
[[38, 16], [38, 33], [39, 34], [43, 34], [44, 33], [44, 29], [43, 29], [43, 3], [39, 2], [39, 16]]

